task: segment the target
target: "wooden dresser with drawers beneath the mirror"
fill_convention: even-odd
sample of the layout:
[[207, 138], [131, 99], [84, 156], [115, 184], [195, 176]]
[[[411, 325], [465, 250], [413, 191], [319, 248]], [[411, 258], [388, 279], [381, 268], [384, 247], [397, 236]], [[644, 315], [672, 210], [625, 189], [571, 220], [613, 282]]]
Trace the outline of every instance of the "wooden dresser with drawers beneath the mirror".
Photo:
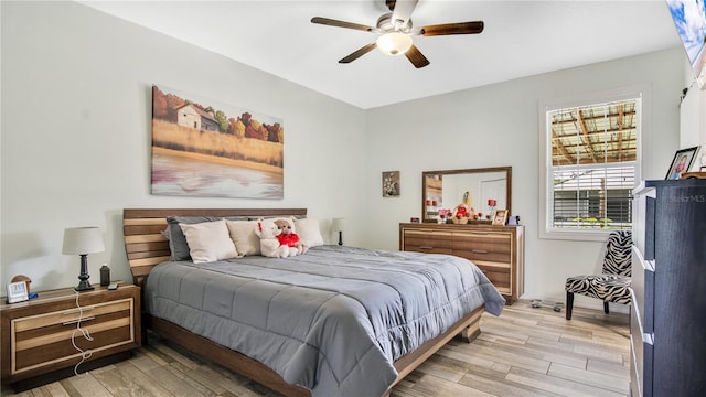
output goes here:
[[524, 226], [399, 224], [399, 249], [473, 261], [512, 304], [524, 293]]

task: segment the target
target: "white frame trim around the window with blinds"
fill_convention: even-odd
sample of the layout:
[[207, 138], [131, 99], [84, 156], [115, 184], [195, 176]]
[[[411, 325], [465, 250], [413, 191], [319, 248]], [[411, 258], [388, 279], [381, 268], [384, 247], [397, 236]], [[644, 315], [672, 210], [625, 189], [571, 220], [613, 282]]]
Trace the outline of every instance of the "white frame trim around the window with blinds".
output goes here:
[[[552, 222], [554, 213], [552, 210], [552, 201], [554, 200], [554, 175], [552, 173], [552, 139], [549, 138], [549, 122], [547, 121], [548, 111], [590, 106], [595, 104], [605, 104], [619, 100], [639, 99], [635, 108], [639, 110], [637, 120], [637, 159], [634, 161], [634, 183], [640, 183], [642, 175], [642, 158], [645, 141], [649, 139], [650, 126], [649, 118], [645, 115], [651, 112], [651, 89], [646, 84], [616, 88], [610, 90], [589, 93], [573, 97], [563, 97], [555, 99], [539, 100], [537, 109], [538, 118], [538, 141], [539, 141], [539, 200], [538, 200], [538, 237], [542, 239], [567, 239], [567, 240], [592, 240], [605, 242], [611, 229], [574, 229], [574, 228], [553, 228]], [[549, 218], [552, 217], [552, 218]]]

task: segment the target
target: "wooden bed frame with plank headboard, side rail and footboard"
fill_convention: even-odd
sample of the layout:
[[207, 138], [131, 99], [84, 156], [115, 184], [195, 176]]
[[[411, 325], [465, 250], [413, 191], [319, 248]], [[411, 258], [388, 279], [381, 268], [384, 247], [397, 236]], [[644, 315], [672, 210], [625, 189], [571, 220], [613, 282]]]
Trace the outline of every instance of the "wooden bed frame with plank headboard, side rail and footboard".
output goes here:
[[[136, 285], [142, 286], [150, 270], [170, 258], [169, 243], [162, 235], [167, 228], [168, 216], [306, 216], [306, 208], [126, 208], [122, 212], [122, 229], [128, 264]], [[446, 345], [456, 335], [470, 342], [480, 334], [480, 318], [484, 309], [481, 307], [453, 324], [443, 334], [427, 341], [416, 351], [400, 357], [394, 363], [398, 372], [394, 385], [411, 373], [419, 364]], [[199, 336], [169, 321], [143, 314], [142, 324], [161, 337], [168, 339], [189, 351], [246, 376], [272, 390], [286, 396], [311, 396], [311, 390], [302, 386], [286, 383], [279, 374], [266, 365], [238, 352]], [[146, 329], [142, 330], [143, 332]], [[147, 341], [142, 337], [142, 341]]]

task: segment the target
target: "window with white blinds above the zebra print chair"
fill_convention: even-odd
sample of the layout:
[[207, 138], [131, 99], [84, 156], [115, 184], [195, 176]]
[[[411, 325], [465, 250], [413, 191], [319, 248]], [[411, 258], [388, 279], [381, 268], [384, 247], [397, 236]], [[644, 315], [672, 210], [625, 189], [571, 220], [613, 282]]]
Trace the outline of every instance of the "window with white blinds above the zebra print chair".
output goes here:
[[544, 235], [632, 227], [641, 99], [544, 109]]

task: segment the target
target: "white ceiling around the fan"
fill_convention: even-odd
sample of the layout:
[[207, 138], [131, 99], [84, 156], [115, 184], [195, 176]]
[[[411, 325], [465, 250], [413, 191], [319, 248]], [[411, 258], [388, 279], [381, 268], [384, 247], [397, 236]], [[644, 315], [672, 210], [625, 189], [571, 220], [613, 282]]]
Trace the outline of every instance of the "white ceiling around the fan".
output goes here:
[[680, 45], [665, 0], [420, 0], [415, 26], [485, 29], [415, 37], [431, 62], [419, 69], [378, 51], [339, 64], [377, 34], [310, 22], [375, 25], [384, 0], [79, 2], [363, 109]]

